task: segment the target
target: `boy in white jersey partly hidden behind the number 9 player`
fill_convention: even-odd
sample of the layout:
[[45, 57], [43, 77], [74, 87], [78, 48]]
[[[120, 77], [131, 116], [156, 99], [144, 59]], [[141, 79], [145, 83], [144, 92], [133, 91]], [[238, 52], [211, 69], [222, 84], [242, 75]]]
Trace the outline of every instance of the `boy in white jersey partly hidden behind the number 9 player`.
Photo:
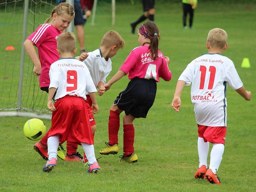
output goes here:
[[[115, 56], [119, 49], [123, 48], [123, 38], [116, 31], [108, 31], [103, 36], [99, 49], [96, 49], [93, 52], [89, 52], [88, 54], [82, 53], [80, 57], [76, 57], [76, 59], [83, 61], [84, 64], [88, 67], [90, 75], [92, 76], [92, 81], [95, 87], [99, 89], [98, 94], [100, 96], [102, 96], [106, 90], [104, 84], [106, 84], [106, 77], [112, 69], [110, 58]], [[90, 98], [90, 95], [88, 95], [88, 92], [86, 92], [86, 98], [87, 112], [89, 115], [90, 124], [92, 128], [92, 139], [94, 139], [97, 127], [94, 120], [94, 116], [91, 113], [92, 100]], [[77, 144], [67, 140], [67, 155], [65, 160], [71, 161], [72, 159], [75, 158], [78, 159], [76, 149]], [[84, 154], [84, 163], [86, 163], [87, 161], [88, 160]]]

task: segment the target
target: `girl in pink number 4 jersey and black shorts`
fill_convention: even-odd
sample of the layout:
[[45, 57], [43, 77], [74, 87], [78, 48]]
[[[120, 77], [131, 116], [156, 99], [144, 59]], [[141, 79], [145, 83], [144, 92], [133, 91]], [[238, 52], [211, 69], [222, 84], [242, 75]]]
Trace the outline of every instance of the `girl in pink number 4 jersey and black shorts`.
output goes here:
[[168, 68], [170, 60], [164, 57], [158, 49], [159, 30], [156, 24], [148, 21], [141, 25], [138, 30], [140, 47], [136, 47], [129, 54], [118, 72], [105, 84], [106, 90], [129, 73], [131, 80], [123, 92], [119, 93], [110, 108], [108, 121], [107, 147], [100, 150], [100, 154], [117, 154], [118, 152], [118, 130], [120, 125], [119, 115], [125, 112], [124, 124], [124, 155], [120, 156], [121, 162], [135, 163], [138, 161], [134, 153], [134, 126], [135, 118], [146, 118], [148, 110], [154, 103], [156, 96], [156, 82], [159, 77], [165, 81], [172, 78]]

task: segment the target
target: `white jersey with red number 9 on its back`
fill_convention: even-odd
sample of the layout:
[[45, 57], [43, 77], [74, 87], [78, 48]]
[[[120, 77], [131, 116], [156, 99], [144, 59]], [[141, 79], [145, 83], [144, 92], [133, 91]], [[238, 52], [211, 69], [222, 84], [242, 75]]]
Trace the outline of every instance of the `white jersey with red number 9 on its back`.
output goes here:
[[66, 95], [86, 100], [85, 92], [97, 92], [88, 68], [76, 58], [61, 58], [55, 61], [51, 65], [49, 76], [49, 89], [57, 88], [55, 100]]

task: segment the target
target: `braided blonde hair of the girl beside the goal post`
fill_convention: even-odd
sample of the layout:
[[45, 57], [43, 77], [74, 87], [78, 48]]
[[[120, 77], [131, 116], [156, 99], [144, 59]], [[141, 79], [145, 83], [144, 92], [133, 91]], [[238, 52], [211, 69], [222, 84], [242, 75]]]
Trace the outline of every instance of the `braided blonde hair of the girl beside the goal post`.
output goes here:
[[58, 16], [62, 15], [63, 13], [67, 13], [71, 17], [75, 17], [75, 10], [74, 8], [68, 4], [68, 3], [60, 3], [52, 10], [52, 15], [47, 20], [44, 21], [45, 23], [48, 23], [49, 20], [52, 18], [53, 14], [56, 13]]

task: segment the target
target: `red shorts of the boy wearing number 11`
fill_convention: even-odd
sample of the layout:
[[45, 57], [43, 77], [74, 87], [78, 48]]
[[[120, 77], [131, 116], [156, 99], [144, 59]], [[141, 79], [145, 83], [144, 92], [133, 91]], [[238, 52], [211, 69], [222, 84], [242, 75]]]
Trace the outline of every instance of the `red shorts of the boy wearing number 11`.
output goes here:
[[204, 125], [198, 126], [198, 137], [204, 139], [204, 142], [211, 143], [222, 143], [225, 145], [225, 136], [227, 132], [227, 127], [209, 127]]

